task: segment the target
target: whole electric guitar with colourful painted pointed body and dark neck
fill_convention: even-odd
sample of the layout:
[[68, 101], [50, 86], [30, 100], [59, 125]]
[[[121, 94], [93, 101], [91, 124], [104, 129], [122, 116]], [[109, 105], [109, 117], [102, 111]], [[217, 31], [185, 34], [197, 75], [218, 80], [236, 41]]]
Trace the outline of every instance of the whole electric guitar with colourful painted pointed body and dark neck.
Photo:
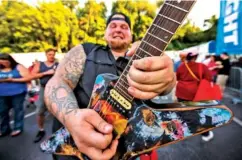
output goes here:
[[[195, 0], [165, 1], [121, 76], [107, 73], [96, 78], [89, 108], [113, 125], [114, 138], [120, 137], [116, 159], [132, 159], [232, 120], [231, 110], [218, 101], [162, 104], [156, 109], [127, 91], [126, 75], [133, 60], [160, 56], [194, 3]], [[65, 128], [44, 141], [41, 149], [47, 153], [89, 159], [78, 150]]]

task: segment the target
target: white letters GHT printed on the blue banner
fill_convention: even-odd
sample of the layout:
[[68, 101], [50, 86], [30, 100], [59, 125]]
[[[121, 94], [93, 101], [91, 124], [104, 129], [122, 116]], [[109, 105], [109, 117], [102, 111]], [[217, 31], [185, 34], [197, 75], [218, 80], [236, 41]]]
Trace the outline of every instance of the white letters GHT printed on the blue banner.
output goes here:
[[239, 0], [227, 0], [225, 18], [224, 18], [224, 33], [230, 33], [224, 36], [225, 43], [233, 43], [238, 45], [238, 8]]

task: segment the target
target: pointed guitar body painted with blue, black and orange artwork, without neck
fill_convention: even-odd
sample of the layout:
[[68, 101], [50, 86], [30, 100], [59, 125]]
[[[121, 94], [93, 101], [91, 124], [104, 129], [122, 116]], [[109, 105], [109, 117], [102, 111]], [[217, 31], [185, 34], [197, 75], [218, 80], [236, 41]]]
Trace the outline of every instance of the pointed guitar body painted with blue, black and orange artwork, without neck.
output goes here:
[[[229, 123], [232, 112], [225, 106], [207, 104], [206, 107], [187, 106], [182, 103], [164, 104], [163, 109], [154, 109], [141, 100], [134, 100], [126, 109], [122, 102], [111, 96], [118, 77], [99, 75], [94, 85], [89, 108], [98, 112], [114, 127], [115, 137], [121, 137], [118, 159], [132, 159], [161, 146], [176, 143]], [[204, 102], [205, 103], [205, 102]], [[199, 104], [199, 103], [198, 103]], [[71, 135], [61, 128], [41, 144], [44, 152], [58, 155], [75, 155], [88, 159], [78, 151]]]

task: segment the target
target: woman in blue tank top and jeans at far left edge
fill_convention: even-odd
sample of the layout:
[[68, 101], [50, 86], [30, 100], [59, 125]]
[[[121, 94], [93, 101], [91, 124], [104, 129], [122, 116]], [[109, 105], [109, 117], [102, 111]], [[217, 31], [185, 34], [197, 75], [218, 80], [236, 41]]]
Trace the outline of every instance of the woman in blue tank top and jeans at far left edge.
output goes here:
[[0, 137], [11, 132], [9, 111], [14, 110], [11, 136], [18, 136], [24, 129], [24, 100], [27, 83], [42, 74], [31, 75], [29, 70], [17, 63], [9, 54], [0, 54]]

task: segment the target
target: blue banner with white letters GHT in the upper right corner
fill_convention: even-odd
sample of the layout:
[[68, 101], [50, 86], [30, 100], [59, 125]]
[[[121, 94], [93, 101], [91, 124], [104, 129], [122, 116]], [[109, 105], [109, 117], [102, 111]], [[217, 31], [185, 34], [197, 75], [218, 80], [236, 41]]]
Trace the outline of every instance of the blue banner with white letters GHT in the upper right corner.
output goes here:
[[216, 53], [242, 54], [242, 1], [221, 0]]

